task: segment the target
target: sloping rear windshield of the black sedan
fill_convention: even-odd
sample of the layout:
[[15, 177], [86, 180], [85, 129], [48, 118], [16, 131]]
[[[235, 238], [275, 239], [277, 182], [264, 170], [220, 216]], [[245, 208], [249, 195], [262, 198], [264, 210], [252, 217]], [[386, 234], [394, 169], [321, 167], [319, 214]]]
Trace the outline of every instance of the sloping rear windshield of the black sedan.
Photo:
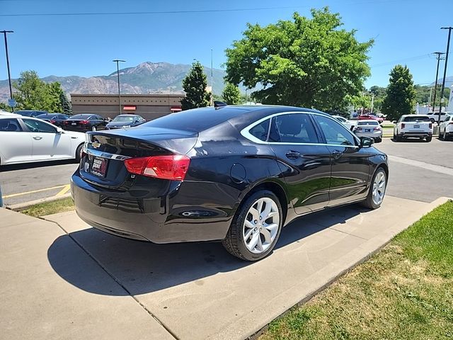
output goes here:
[[219, 108], [217, 110], [214, 108], [195, 108], [193, 110], [165, 115], [164, 117], [144, 123], [142, 126], [200, 132], [247, 111], [245, 108], [231, 107]]

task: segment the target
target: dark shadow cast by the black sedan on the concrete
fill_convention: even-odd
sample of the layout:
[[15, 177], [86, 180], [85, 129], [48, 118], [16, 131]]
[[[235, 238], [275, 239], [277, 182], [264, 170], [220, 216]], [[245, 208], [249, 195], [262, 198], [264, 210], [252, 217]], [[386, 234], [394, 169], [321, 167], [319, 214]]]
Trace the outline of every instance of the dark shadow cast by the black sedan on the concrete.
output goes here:
[[[275, 249], [300, 242], [338, 223], [345, 223], [363, 211], [367, 210], [352, 205], [300, 217], [282, 230]], [[254, 264], [231, 256], [219, 242], [152, 244], [123, 239], [94, 228], [71, 232], [55, 239], [47, 251], [47, 258], [55, 272], [71, 285], [100, 295], [128, 293], [125, 290], [113, 292], [108, 288], [109, 285], [97, 282], [90, 271], [84, 271], [79, 263], [83, 262], [82, 256], [86, 254], [71, 251], [70, 247], [65, 246], [71, 239], [132, 295], [171, 288]]]

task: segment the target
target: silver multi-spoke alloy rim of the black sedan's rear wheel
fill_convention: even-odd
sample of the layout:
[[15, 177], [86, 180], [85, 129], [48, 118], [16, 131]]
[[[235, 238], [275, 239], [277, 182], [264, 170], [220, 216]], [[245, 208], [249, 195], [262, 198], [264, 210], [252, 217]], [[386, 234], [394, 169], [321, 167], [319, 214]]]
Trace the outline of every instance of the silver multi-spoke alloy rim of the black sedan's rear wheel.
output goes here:
[[243, 224], [243, 242], [248, 251], [261, 254], [269, 249], [278, 234], [280, 212], [272, 198], [259, 198], [248, 210]]

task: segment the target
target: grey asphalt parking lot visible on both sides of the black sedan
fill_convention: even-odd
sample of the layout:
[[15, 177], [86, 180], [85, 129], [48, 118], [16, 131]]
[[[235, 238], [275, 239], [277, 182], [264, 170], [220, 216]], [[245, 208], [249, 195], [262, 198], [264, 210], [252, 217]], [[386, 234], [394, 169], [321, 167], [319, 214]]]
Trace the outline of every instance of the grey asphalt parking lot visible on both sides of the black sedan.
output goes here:
[[[423, 202], [452, 196], [453, 142], [384, 138], [375, 147], [390, 157], [389, 195]], [[4, 166], [0, 170], [4, 203], [16, 205], [69, 193], [69, 178], [76, 167], [69, 161]]]

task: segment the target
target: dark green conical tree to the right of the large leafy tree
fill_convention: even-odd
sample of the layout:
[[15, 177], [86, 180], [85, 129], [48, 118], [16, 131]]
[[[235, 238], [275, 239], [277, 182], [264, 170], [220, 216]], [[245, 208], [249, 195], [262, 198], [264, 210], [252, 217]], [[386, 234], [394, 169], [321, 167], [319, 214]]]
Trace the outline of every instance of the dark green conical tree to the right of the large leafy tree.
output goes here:
[[414, 106], [415, 89], [412, 74], [407, 66], [396, 65], [390, 72], [382, 113], [387, 115], [389, 120], [398, 120], [401, 115], [413, 113]]

